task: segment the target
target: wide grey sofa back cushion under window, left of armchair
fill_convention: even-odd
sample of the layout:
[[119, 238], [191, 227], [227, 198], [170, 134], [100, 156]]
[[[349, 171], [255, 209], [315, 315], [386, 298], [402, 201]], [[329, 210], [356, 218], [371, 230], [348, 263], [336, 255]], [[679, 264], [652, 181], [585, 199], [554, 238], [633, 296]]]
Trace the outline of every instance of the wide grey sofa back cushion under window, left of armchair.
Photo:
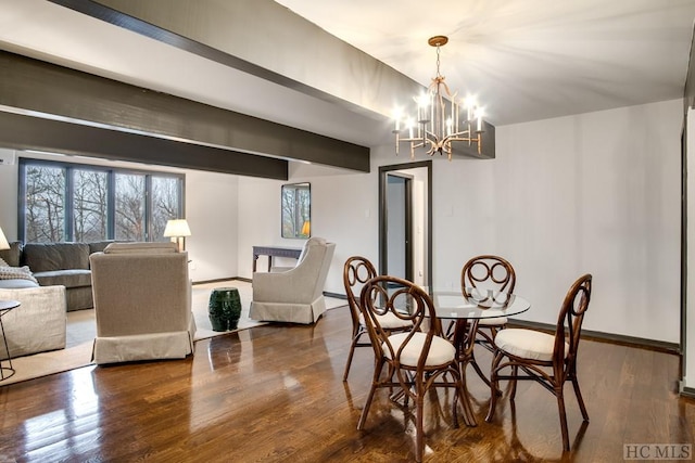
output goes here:
[[22, 253], [22, 265], [36, 274], [53, 270], [89, 269], [87, 243], [27, 243]]

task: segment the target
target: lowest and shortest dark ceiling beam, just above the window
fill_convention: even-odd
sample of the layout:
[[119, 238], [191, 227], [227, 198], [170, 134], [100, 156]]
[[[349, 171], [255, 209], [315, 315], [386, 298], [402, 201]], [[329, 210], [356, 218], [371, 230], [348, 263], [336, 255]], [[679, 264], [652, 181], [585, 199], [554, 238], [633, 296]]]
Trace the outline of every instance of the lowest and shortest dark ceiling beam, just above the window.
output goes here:
[[0, 146], [288, 179], [288, 163], [156, 137], [0, 112]]

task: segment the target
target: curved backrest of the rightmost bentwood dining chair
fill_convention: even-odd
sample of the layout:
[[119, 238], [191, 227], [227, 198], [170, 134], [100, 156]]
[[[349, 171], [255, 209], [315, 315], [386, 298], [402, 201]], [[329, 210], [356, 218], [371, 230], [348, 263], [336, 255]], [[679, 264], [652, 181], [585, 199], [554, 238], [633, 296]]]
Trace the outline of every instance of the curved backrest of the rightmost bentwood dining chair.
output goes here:
[[[591, 300], [591, 285], [592, 275], [582, 275], [570, 286], [565, 296], [555, 329], [553, 365], [556, 371], [564, 368], [572, 369], [574, 365], [582, 323]], [[566, 348], [569, 351], [566, 352]]]

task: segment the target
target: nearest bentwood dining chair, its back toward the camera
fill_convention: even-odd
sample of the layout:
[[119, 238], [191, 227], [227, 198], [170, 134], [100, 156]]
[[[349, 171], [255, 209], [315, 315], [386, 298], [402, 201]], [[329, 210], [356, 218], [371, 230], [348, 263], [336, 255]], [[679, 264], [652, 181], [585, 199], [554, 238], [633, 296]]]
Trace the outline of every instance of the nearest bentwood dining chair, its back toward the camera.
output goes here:
[[[409, 399], [415, 403], [415, 459], [420, 462], [425, 452], [425, 396], [432, 387], [455, 390], [452, 416], [454, 426], [458, 427], [457, 399], [465, 397], [465, 391], [456, 348], [442, 335], [441, 323], [430, 296], [409, 281], [388, 275], [376, 276], [367, 281], [359, 300], [376, 356], [376, 368], [357, 429], [365, 427], [377, 389], [400, 388], [405, 403]], [[387, 313], [409, 321], [410, 330], [389, 334], [381, 325]], [[388, 368], [387, 374], [382, 374], [384, 366]]]

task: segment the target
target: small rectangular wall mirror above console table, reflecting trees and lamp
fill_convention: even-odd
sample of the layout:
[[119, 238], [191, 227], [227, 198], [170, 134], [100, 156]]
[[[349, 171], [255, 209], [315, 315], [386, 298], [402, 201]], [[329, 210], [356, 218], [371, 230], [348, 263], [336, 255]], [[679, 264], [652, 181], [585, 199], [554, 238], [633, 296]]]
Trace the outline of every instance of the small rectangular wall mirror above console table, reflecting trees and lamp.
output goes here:
[[312, 235], [312, 187], [309, 183], [282, 185], [282, 237], [306, 239]]

